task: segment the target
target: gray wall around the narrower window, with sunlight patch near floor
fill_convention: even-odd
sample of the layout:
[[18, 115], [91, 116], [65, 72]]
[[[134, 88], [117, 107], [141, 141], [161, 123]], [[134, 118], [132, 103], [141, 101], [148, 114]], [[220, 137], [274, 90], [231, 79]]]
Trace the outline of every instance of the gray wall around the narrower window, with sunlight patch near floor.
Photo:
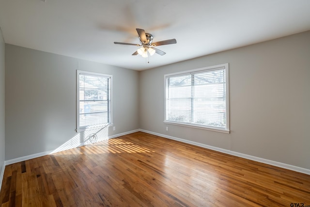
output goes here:
[[[112, 74], [112, 127], [98, 140], [139, 128], [139, 72], [5, 45], [5, 160], [87, 142], [76, 129], [76, 70]], [[2, 146], [1, 146], [2, 147]]]

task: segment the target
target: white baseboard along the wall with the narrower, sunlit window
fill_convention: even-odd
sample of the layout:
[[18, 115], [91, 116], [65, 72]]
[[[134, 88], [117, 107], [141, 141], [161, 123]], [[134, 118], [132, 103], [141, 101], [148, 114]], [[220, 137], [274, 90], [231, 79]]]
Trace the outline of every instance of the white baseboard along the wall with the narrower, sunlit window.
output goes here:
[[[119, 136], [123, 136], [123, 135], [126, 135], [126, 134], [131, 134], [131, 133], [134, 133], [134, 132], [137, 132], [137, 131], [140, 131], [140, 130], [136, 129], [136, 130], [120, 133], [120, 134], [111, 135], [111, 136], [108, 137], [108, 139], [119, 137]], [[83, 146], [83, 145], [85, 145], [85, 143], [81, 143], [80, 145], [78, 145], [76, 147]], [[73, 148], [75, 148], [75, 147], [73, 147]], [[68, 150], [68, 148], [65, 149], [65, 150]], [[61, 152], [61, 151], [57, 151], [57, 152]], [[39, 157], [50, 155], [50, 154], [53, 154], [53, 153], [56, 153], [56, 151], [55, 150], [50, 150], [50, 151], [46, 151], [46, 152], [40, 152], [40, 153], [37, 153], [37, 154], [27, 155], [27, 156], [20, 157], [20, 158], [9, 159], [9, 160], [4, 161], [4, 166], [9, 165], [9, 164], [14, 164], [14, 163], [17, 163], [17, 162], [21, 162], [21, 161], [25, 161], [25, 160], [28, 160], [28, 159], [39, 158]], [[4, 168], [3, 168], [3, 172], [4, 172]]]

